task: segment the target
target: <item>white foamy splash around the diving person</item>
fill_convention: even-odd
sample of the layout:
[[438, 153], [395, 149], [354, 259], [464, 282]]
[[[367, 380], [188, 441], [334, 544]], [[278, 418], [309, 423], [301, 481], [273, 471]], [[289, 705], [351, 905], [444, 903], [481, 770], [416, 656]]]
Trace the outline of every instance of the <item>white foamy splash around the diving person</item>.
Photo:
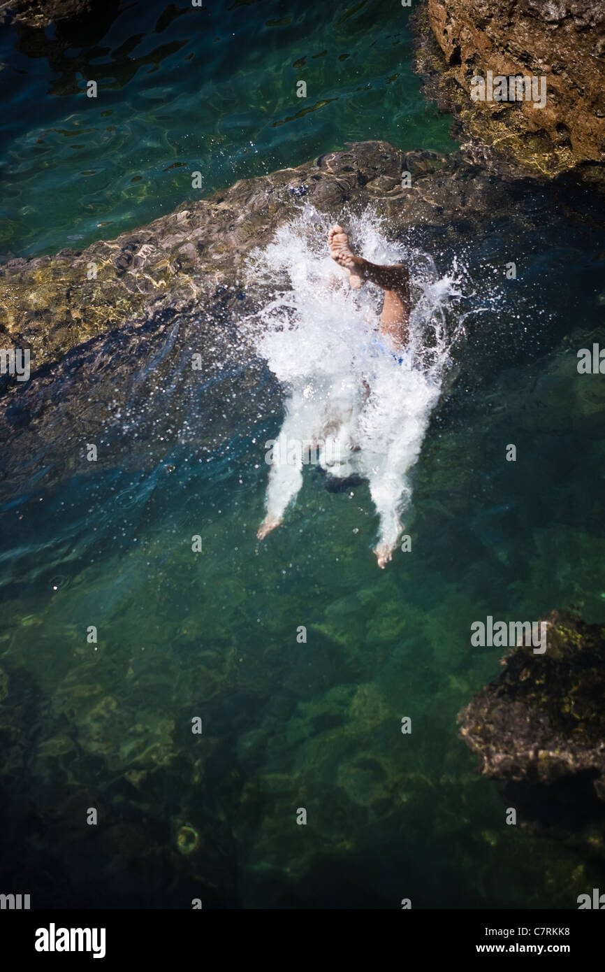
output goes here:
[[[458, 295], [457, 281], [440, 279], [426, 254], [393, 248], [374, 214], [340, 215], [339, 221], [353, 253], [376, 263], [409, 265], [407, 351], [393, 354], [382, 335], [377, 343], [383, 294], [371, 284], [360, 291], [350, 288], [346, 271], [327, 252], [331, 223], [311, 206], [248, 262], [249, 281], [269, 295], [254, 315], [253, 341], [286, 387], [281, 435], [286, 441], [335, 441], [332, 453], [339, 461], [330, 462], [327, 450], [319, 453], [328, 475], [368, 480], [380, 520], [380, 562], [403, 531], [412, 495], [408, 475], [450, 365], [453, 337], [447, 336], [444, 309]], [[271, 465], [265, 522], [282, 521], [301, 485], [300, 461]]]

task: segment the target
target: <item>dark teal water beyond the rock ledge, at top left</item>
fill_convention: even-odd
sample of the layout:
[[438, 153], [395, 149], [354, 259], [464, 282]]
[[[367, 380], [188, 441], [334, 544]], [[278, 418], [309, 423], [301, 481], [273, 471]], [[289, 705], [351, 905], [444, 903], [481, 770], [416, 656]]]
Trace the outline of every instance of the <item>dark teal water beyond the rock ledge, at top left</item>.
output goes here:
[[384, 0], [131, 4], [90, 48], [52, 48], [51, 66], [6, 33], [0, 254], [143, 226], [191, 198], [196, 171], [203, 196], [346, 141], [454, 148], [420, 98], [408, 17]]

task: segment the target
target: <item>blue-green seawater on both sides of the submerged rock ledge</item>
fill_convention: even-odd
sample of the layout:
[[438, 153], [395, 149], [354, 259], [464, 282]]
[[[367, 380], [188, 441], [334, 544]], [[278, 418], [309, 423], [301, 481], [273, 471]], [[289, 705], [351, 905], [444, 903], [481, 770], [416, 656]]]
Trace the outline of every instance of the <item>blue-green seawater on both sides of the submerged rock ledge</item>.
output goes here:
[[[106, 152], [94, 133], [78, 152], [54, 133], [54, 154], [36, 169], [37, 128], [28, 136], [8, 122], [4, 157], [20, 166], [8, 172], [12, 252], [58, 249], [68, 232], [84, 245], [168, 211], [189, 193], [162, 167], [178, 158], [188, 172], [202, 149], [202, 171], [226, 185], [346, 140], [449, 144], [449, 122], [420, 98], [407, 13], [395, 5], [293, 6], [283, 26], [265, 26], [277, 5], [238, 5], [220, 17], [187, 12], [157, 37], [161, 9], [146, 6], [140, 24], [138, 8], [121, 15], [99, 41], [128, 50], [143, 33], [148, 58], [131, 80], [132, 65], [112, 68], [121, 87], [110, 89], [111, 123], [124, 129]], [[216, 27], [192, 40], [202, 16]], [[234, 32], [240, 53], [229, 60]], [[150, 52], [179, 41], [148, 77]], [[214, 64], [202, 61], [211, 50]], [[199, 53], [195, 81], [187, 52], [191, 71]], [[28, 85], [46, 91], [44, 64], [11, 56], [40, 72]], [[275, 127], [297, 110], [275, 79], [303, 56], [309, 90], [338, 101]], [[44, 109], [27, 101], [28, 120], [39, 111], [50, 128], [52, 109], [53, 127], [67, 130], [74, 112], [84, 124], [65, 72]], [[195, 102], [204, 77], [212, 92]], [[156, 86], [177, 100], [158, 96], [141, 114], [142, 92]], [[190, 151], [174, 127], [186, 131], [185, 119], [199, 133]], [[219, 137], [224, 156], [212, 148]], [[81, 195], [77, 174], [94, 165], [98, 181]], [[144, 179], [131, 184], [137, 165]], [[258, 442], [278, 432], [283, 394], [232, 349], [222, 366], [228, 338], [200, 385], [183, 366], [185, 324], [150, 341], [123, 395], [117, 356], [82, 425], [77, 416], [47, 430], [40, 454], [32, 447], [4, 482], [0, 821], [18, 853], [5, 852], [3, 880], [31, 885], [32, 906], [188, 908], [200, 897], [204, 907], [398, 908], [410, 897], [414, 908], [573, 908], [602, 886], [599, 834], [506, 826], [497, 788], [456, 736], [456, 713], [499, 672], [499, 649], [471, 647], [472, 621], [537, 619], [569, 604], [602, 621], [605, 611], [605, 392], [599, 376], [576, 370], [576, 350], [598, 339], [602, 320], [602, 234], [557, 214], [548, 192], [525, 192], [542, 225], [521, 240], [519, 280], [493, 283], [506, 246], [520, 247], [518, 226], [494, 218], [462, 255], [475, 296], [452, 314], [472, 312], [468, 338], [412, 473], [412, 552], [397, 551], [386, 572], [371, 550], [367, 484], [330, 493], [315, 469], [284, 526], [256, 540]], [[84, 211], [97, 203], [95, 216]], [[99, 216], [113, 228], [97, 227]], [[435, 238], [424, 245], [446, 272], [454, 253]], [[82, 437], [95, 410], [113, 418], [91, 470]], [[84, 823], [89, 807], [96, 827]]]

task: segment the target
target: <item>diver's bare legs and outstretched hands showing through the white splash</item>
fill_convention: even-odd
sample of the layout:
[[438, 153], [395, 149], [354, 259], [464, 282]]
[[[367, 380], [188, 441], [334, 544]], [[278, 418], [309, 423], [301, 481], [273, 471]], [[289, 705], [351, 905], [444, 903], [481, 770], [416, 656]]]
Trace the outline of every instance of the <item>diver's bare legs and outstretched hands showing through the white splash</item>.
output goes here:
[[[358, 290], [364, 283], [368, 282], [375, 284], [384, 291], [383, 308], [378, 328], [380, 339], [375, 337], [374, 343], [382, 352], [391, 355], [398, 364], [401, 364], [403, 361], [401, 356], [408, 346], [410, 321], [410, 273], [407, 266], [403, 263], [386, 266], [371, 263], [362, 257], [356, 257], [349, 246], [347, 233], [338, 224], [332, 226], [328, 232], [328, 248], [332, 260], [335, 260], [339, 266], [348, 272], [349, 283], [353, 290]], [[364, 394], [367, 396], [370, 390], [365, 379], [363, 385]], [[272, 503], [272, 489], [276, 486], [276, 472], [278, 470], [281, 475], [280, 498], [277, 503]], [[289, 479], [289, 482], [285, 482], [285, 477]], [[272, 466], [267, 489], [267, 514], [256, 533], [258, 539], [265, 538], [267, 534], [280, 526], [283, 522], [286, 506], [298, 492], [301, 482], [300, 464], [292, 465], [289, 468]], [[376, 547], [374, 552], [379, 567], [385, 568], [387, 562], [391, 560], [393, 548], [393, 541], [379, 543]]]

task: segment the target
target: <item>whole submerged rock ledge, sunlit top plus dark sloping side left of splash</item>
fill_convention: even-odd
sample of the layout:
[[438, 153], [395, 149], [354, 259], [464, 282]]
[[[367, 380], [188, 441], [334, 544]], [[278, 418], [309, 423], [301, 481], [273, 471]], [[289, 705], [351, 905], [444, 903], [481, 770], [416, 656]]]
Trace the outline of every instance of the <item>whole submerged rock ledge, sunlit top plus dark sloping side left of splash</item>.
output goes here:
[[[408, 180], [401, 185], [405, 172], [409, 188]], [[293, 185], [309, 192], [292, 195]], [[545, 234], [569, 237], [574, 222], [584, 233], [588, 211], [590, 232], [600, 232], [603, 189], [598, 181], [579, 186], [569, 176], [546, 187], [506, 172], [496, 179], [458, 153], [359, 142], [295, 169], [240, 181], [83, 252], [0, 267], [0, 347], [31, 351], [28, 381], [0, 377], [0, 480], [10, 493], [24, 487], [34, 475], [32, 456], [44, 457], [47, 486], [54, 476], [89, 471], [85, 443], [102, 439], [97, 469], [106, 462], [129, 467], [133, 429], [116, 415], [129, 415], [138, 440], [150, 443], [137, 462], [151, 469], [173, 462], [175, 440], [186, 444], [194, 434], [196, 449], [210, 449], [231, 434], [229, 422], [250, 419], [252, 428], [265, 405], [273, 411], [277, 387], [266, 377], [259, 382], [262, 364], [239, 330], [268, 295], [243, 271], [252, 250], [308, 205], [330, 220], [370, 209], [393, 242], [418, 244], [445, 271], [454, 258], [483, 267], [487, 239], [500, 252], [503, 233], [526, 240], [533, 234], [541, 243]], [[478, 347], [481, 367], [473, 364], [472, 346], [466, 350], [469, 374], [485, 373], [485, 342]], [[201, 371], [192, 371], [193, 353]], [[224, 362], [234, 354], [242, 367], [237, 394], [225, 385]], [[212, 430], [195, 423], [193, 432], [189, 413], [200, 380], [205, 407], [222, 417]], [[160, 404], [168, 393], [171, 409]], [[73, 441], [69, 455], [67, 439]]]

